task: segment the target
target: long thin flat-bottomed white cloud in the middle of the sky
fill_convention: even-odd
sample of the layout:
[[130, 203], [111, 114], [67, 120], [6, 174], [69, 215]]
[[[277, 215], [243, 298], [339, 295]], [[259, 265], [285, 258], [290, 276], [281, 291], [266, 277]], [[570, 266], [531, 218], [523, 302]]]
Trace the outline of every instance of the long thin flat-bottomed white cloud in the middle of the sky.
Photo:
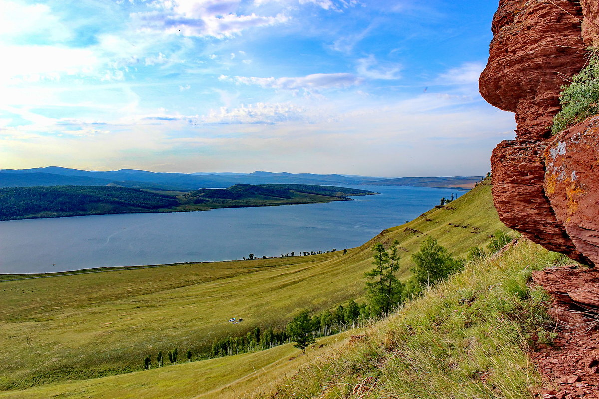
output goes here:
[[361, 84], [363, 79], [353, 74], [313, 74], [305, 77], [292, 78], [257, 78], [220, 75], [220, 81], [230, 81], [235, 84], [255, 85], [279, 90], [320, 90], [345, 89]]

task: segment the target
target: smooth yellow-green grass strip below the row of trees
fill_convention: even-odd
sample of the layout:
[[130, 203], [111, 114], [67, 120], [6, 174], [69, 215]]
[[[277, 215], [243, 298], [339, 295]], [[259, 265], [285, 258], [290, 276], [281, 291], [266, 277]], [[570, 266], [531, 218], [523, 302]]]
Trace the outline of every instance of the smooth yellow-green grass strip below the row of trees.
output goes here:
[[331, 349], [346, 344], [349, 332], [319, 339], [302, 356], [292, 344], [250, 354], [176, 364], [147, 371], [36, 386], [22, 391], [0, 392], [0, 399], [228, 399], [258, 394], [263, 385], [290, 377], [301, 367]]

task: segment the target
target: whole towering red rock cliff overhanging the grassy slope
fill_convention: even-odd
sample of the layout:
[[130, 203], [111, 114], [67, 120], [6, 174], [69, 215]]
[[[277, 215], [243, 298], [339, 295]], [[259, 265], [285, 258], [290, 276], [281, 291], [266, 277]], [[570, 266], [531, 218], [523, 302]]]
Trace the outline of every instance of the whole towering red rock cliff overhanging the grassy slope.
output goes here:
[[550, 136], [561, 85], [585, 65], [586, 45], [599, 44], [599, 2], [500, 0], [492, 32], [480, 93], [515, 112], [518, 124], [516, 140], [502, 142], [491, 158], [501, 221], [547, 249], [599, 266], [595, 122]]

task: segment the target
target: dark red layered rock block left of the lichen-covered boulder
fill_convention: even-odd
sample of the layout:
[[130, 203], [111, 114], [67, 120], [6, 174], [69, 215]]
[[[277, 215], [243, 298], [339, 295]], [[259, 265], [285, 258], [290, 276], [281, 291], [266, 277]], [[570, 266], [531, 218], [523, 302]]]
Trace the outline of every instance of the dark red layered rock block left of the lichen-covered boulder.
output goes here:
[[588, 263], [558, 222], [543, 191], [546, 145], [534, 140], [502, 141], [493, 151], [493, 200], [500, 220], [550, 251]]

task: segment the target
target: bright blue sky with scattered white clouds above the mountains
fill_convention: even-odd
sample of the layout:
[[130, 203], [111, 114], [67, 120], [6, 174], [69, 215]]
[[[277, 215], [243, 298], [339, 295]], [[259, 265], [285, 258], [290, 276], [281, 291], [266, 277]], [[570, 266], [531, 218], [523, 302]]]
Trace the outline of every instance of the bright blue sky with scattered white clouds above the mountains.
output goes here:
[[480, 175], [497, 0], [0, 0], [0, 169]]

